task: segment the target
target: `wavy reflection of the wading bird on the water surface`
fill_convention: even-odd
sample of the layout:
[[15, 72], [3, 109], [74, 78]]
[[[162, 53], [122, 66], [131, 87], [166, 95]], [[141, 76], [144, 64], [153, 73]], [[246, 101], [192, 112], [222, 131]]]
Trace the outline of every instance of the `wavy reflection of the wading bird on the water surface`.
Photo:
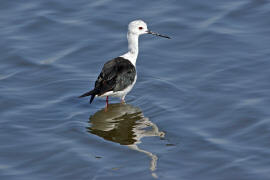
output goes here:
[[106, 111], [99, 110], [89, 120], [91, 125], [87, 128], [88, 132], [148, 155], [151, 158], [152, 176], [157, 177], [154, 173], [157, 156], [140, 149], [138, 144], [143, 137], [164, 137], [165, 133], [160, 132], [156, 124], [144, 117], [140, 108], [129, 104], [110, 104]]

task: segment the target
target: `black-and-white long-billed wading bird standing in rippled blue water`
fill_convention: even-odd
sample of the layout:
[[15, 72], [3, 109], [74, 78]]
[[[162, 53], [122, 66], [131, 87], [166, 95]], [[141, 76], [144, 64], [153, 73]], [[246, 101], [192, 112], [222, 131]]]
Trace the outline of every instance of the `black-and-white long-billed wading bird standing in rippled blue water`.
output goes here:
[[90, 104], [96, 96], [106, 97], [106, 107], [109, 105], [109, 96], [119, 97], [121, 103], [125, 103], [126, 95], [137, 80], [136, 60], [139, 53], [139, 36], [143, 34], [170, 39], [169, 36], [150, 31], [143, 20], [131, 21], [127, 32], [128, 52], [107, 61], [95, 81], [94, 88], [79, 97], [91, 96]]

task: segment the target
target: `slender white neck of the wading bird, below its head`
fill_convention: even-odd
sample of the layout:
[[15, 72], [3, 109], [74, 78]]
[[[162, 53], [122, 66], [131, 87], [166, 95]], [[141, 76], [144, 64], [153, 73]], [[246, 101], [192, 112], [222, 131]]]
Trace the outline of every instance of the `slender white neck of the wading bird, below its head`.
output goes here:
[[139, 53], [139, 36], [128, 32], [128, 52], [120, 57], [128, 59], [134, 66], [136, 66], [136, 60]]

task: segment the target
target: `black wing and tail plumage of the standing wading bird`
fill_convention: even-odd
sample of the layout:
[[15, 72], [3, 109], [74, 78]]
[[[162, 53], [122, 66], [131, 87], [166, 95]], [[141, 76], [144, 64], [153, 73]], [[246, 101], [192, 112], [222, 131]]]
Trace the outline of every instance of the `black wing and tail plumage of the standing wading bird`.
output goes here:
[[101, 96], [106, 92], [122, 91], [133, 83], [136, 76], [135, 66], [127, 59], [117, 57], [106, 62], [99, 74], [95, 88], [80, 97], [90, 96], [90, 104], [95, 96]]

